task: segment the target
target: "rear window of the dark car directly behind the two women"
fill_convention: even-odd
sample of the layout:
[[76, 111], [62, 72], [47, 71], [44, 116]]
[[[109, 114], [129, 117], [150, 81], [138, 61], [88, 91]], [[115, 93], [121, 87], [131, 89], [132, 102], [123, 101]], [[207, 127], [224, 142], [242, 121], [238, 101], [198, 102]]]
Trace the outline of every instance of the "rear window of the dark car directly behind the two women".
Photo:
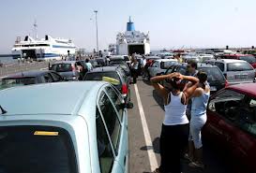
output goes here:
[[200, 67], [199, 70], [207, 74], [208, 81], [223, 81], [225, 77], [222, 75], [222, 72], [218, 67]]

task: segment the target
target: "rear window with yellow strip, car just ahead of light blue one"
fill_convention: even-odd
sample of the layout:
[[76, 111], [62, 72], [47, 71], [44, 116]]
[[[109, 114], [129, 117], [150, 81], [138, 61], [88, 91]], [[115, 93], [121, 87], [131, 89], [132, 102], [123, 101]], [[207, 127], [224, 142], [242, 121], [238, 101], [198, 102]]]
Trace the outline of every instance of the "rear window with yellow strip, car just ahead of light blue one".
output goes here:
[[119, 85], [121, 83], [118, 74], [113, 72], [95, 72], [95, 73], [87, 73], [84, 77], [84, 80], [106, 80], [106, 79], [114, 79], [118, 80], [119, 83], [117, 84], [114, 82], [114, 85]]

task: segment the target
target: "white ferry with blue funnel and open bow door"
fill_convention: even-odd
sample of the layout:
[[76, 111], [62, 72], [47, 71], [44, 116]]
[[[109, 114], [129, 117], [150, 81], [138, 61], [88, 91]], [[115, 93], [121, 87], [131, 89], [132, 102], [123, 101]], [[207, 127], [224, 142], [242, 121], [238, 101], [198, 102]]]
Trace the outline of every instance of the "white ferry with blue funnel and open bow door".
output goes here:
[[137, 54], [149, 54], [149, 33], [144, 34], [140, 31], [135, 31], [134, 23], [129, 18], [127, 31], [116, 36], [116, 52], [120, 55], [131, 55], [135, 52]]

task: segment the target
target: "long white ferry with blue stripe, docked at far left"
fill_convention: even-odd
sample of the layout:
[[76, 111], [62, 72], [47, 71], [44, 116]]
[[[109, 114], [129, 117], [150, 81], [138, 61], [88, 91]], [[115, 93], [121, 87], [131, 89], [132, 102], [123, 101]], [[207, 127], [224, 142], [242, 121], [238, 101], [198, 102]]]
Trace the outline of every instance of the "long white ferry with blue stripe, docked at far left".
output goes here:
[[70, 39], [53, 38], [46, 35], [42, 39], [25, 36], [17, 37], [11, 53], [13, 59], [24, 58], [34, 61], [61, 60], [75, 55], [76, 46]]

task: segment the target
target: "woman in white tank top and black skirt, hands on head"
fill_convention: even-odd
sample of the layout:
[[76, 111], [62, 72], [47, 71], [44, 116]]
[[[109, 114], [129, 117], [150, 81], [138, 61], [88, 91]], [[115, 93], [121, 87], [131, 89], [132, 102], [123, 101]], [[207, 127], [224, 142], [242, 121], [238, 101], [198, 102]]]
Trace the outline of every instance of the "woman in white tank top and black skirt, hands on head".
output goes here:
[[[170, 92], [164, 88], [160, 81], [167, 79], [172, 85]], [[181, 80], [186, 79], [191, 85], [183, 91]], [[171, 73], [151, 78], [155, 90], [164, 100], [165, 118], [162, 123], [160, 135], [160, 166], [155, 173], [181, 173], [180, 159], [188, 146], [188, 117], [186, 108], [188, 100], [197, 88], [199, 79]]]

